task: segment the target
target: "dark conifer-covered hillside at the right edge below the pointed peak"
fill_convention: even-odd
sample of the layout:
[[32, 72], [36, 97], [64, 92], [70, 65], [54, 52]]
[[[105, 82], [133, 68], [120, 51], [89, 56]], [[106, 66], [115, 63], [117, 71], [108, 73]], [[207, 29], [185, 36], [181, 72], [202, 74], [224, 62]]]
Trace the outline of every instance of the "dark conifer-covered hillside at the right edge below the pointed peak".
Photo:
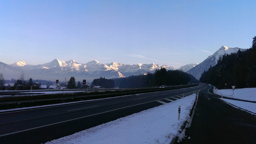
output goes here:
[[250, 49], [220, 57], [215, 66], [203, 72], [200, 82], [219, 89], [256, 87], [256, 36]]

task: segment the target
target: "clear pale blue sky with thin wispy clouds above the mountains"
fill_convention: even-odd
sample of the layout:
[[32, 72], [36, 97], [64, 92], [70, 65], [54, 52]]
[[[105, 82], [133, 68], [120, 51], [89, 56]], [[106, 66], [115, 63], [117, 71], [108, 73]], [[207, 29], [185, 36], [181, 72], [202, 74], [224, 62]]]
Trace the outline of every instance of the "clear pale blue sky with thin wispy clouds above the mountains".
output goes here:
[[256, 1], [0, 1], [0, 62], [200, 63], [250, 48]]

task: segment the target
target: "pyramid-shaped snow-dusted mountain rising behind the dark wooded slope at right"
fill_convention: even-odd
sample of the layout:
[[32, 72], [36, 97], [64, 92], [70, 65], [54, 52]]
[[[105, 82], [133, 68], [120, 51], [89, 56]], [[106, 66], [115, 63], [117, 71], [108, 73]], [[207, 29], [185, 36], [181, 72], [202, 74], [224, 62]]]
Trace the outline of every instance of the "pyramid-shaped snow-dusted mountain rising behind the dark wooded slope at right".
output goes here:
[[194, 68], [191, 68], [187, 71], [188, 74], [192, 74], [196, 79], [200, 79], [201, 74], [210, 68], [210, 66], [215, 66], [217, 64], [217, 61], [219, 60], [220, 56], [223, 56], [224, 54], [231, 54], [236, 53], [238, 50], [244, 51], [246, 49], [242, 48], [229, 48], [227, 46], [221, 46], [219, 50], [217, 50], [213, 55], [209, 56], [207, 59], [205, 59], [203, 62], [195, 66]]

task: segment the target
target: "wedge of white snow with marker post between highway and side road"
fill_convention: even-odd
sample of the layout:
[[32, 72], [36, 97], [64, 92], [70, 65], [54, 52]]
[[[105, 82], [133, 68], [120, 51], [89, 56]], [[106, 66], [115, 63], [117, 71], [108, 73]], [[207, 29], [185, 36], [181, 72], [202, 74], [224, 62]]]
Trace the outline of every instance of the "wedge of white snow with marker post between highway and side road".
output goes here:
[[46, 144], [169, 144], [179, 135], [183, 122], [190, 120], [195, 98], [196, 94], [193, 94]]

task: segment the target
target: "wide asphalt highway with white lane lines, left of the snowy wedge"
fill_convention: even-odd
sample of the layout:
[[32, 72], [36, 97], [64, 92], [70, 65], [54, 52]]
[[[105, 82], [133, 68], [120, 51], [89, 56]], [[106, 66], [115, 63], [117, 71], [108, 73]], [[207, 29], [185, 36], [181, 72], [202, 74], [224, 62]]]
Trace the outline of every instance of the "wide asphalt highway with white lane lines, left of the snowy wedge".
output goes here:
[[182, 98], [203, 85], [91, 102], [0, 113], [1, 144], [41, 144]]

